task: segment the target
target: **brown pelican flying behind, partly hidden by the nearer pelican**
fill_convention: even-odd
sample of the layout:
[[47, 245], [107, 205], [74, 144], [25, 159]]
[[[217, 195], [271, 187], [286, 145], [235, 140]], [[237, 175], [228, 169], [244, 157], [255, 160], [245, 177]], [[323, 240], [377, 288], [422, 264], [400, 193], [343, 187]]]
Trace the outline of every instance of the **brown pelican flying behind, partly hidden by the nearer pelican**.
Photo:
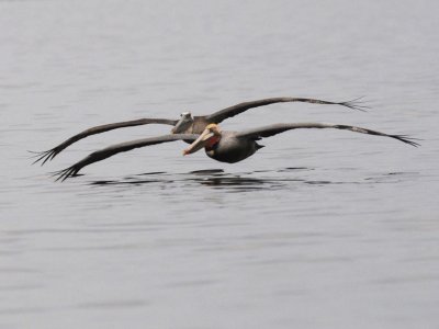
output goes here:
[[42, 161], [42, 166], [48, 161], [54, 159], [61, 150], [70, 146], [71, 144], [86, 138], [91, 135], [101, 134], [104, 132], [123, 128], [123, 127], [133, 127], [146, 124], [164, 124], [171, 125], [173, 128], [171, 129], [172, 134], [201, 134], [204, 128], [212, 123], [218, 124], [228, 117], [233, 117], [238, 115], [249, 109], [264, 106], [273, 103], [285, 103], [285, 102], [303, 102], [303, 103], [313, 103], [313, 104], [326, 104], [326, 105], [342, 105], [352, 110], [364, 111], [368, 106], [359, 103], [360, 99], [356, 99], [347, 102], [328, 102], [322, 100], [314, 99], [303, 99], [303, 98], [272, 98], [272, 99], [263, 99], [251, 102], [239, 103], [219, 111], [216, 111], [210, 115], [201, 115], [201, 116], [192, 116], [190, 112], [183, 112], [180, 115], [180, 120], [168, 120], [168, 118], [139, 118], [133, 121], [125, 122], [116, 122], [111, 124], [105, 124], [101, 126], [95, 126], [88, 128], [70, 138], [66, 139], [61, 144], [55, 146], [54, 148], [36, 152], [36, 160], [34, 163]]

